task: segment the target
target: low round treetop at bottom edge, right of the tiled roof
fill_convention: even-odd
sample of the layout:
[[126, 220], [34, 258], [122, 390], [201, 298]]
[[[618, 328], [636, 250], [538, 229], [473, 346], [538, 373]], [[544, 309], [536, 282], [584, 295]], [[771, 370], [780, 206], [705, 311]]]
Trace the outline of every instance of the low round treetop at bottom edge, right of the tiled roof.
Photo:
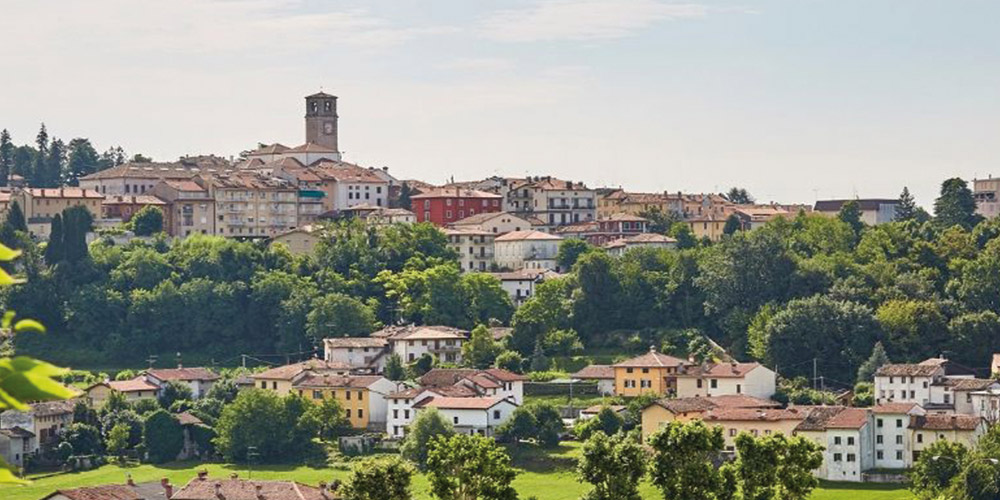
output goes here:
[[344, 500], [410, 500], [413, 468], [399, 458], [366, 458], [351, 468]]

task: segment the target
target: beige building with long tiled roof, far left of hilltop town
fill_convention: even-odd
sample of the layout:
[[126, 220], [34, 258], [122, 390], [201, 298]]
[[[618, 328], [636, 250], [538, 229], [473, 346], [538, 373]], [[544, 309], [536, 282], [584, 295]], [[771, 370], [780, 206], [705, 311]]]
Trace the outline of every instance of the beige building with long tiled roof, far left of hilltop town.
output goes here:
[[48, 239], [52, 219], [67, 208], [83, 207], [95, 221], [104, 213], [104, 196], [83, 188], [23, 188], [14, 191], [13, 199], [24, 211], [28, 232], [42, 239]]

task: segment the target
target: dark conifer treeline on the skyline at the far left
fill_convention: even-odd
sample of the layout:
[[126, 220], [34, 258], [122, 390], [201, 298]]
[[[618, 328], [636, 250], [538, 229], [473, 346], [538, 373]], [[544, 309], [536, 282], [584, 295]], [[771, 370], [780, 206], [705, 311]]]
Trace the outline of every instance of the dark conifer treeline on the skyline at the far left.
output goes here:
[[[98, 153], [89, 139], [77, 137], [63, 142], [50, 137], [43, 123], [34, 143], [17, 146], [7, 129], [0, 131], [0, 187], [19, 175], [31, 187], [76, 186], [78, 179], [126, 161], [121, 146]], [[134, 161], [149, 161], [135, 155]]]

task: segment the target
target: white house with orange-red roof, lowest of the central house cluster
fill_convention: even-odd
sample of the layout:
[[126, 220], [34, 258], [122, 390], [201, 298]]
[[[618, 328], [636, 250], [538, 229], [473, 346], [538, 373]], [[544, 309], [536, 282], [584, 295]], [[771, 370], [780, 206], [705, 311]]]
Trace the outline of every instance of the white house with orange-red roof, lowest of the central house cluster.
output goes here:
[[413, 407], [418, 413], [424, 408], [437, 408], [457, 433], [493, 436], [496, 429], [514, 413], [518, 404], [501, 396], [432, 396]]

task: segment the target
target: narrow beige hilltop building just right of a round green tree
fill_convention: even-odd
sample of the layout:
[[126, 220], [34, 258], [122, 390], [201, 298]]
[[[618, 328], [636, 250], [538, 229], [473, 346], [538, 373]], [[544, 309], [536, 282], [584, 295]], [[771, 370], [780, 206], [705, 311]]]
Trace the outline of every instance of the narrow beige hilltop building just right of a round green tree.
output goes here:
[[166, 202], [163, 229], [170, 236], [215, 234], [215, 200], [208, 190], [190, 179], [166, 179], [152, 188]]

